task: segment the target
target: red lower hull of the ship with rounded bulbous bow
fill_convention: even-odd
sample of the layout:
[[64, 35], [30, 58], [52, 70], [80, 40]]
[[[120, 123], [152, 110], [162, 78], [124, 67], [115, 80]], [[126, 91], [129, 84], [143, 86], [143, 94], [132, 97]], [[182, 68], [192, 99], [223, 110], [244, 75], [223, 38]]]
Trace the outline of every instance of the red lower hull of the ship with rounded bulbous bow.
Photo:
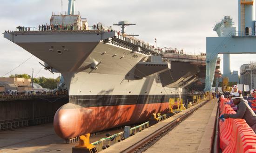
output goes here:
[[54, 130], [63, 139], [104, 129], [148, 121], [152, 113], [166, 113], [169, 102], [83, 108], [68, 103], [54, 116]]

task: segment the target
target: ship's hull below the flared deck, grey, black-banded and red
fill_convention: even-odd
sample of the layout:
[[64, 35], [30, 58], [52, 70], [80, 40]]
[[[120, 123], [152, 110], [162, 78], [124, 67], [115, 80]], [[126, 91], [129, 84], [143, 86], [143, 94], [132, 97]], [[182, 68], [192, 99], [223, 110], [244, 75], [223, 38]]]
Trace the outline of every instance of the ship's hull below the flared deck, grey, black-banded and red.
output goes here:
[[153, 113], [166, 113], [169, 98], [181, 98], [183, 92], [162, 87], [157, 74], [141, 79], [86, 72], [62, 75], [69, 103], [56, 112], [54, 130], [63, 139], [148, 121]]

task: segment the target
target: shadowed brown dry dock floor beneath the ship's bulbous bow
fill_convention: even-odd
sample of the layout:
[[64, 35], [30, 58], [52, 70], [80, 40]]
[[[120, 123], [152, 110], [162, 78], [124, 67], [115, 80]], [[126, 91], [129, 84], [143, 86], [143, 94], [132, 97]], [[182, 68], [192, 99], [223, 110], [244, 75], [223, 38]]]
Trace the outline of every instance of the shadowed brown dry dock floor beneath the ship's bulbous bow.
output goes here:
[[[120, 131], [123, 130], [108, 132], [115, 134]], [[106, 137], [108, 132], [91, 137], [90, 142]], [[0, 153], [72, 153], [72, 147], [77, 143], [67, 144], [59, 138], [52, 123], [0, 131]]]

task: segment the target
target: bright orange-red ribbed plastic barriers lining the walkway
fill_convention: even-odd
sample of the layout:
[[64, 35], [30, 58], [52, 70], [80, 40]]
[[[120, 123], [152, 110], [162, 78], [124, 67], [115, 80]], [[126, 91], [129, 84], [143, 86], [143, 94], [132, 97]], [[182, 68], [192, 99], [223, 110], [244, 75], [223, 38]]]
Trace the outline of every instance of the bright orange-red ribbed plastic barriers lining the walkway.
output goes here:
[[[233, 108], [225, 102], [229, 100], [222, 98], [220, 101], [220, 115], [235, 114]], [[220, 120], [219, 129], [222, 153], [256, 153], [256, 134], [244, 119]]]

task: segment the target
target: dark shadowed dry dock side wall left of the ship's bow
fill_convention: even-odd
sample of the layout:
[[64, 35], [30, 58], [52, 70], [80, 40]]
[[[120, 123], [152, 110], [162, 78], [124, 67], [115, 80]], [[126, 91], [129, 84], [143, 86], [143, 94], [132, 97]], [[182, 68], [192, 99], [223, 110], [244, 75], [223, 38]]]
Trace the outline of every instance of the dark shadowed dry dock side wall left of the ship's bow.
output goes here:
[[0, 101], [0, 130], [53, 122], [68, 96]]

